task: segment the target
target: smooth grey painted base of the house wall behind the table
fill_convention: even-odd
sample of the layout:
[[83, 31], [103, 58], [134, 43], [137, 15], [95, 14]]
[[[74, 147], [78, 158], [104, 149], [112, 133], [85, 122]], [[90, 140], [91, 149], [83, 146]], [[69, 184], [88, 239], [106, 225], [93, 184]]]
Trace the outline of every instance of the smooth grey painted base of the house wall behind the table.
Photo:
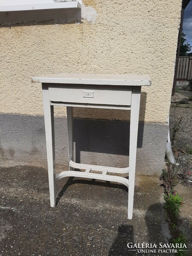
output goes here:
[[[168, 125], [139, 123], [137, 174], [161, 173]], [[129, 123], [93, 119], [74, 120], [76, 162], [128, 166]], [[67, 166], [67, 119], [55, 118], [56, 163]], [[47, 163], [44, 117], [0, 114], [0, 158]]]

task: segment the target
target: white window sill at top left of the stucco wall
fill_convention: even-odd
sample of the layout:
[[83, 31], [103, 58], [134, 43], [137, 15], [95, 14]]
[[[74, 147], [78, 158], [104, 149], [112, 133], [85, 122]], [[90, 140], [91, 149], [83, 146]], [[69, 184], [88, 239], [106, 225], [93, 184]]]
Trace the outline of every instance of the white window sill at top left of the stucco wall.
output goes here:
[[53, 0], [0, 0], [0, 12], [16, 12], [47, 9], [81, 9], [82, 0], [55, 3]]

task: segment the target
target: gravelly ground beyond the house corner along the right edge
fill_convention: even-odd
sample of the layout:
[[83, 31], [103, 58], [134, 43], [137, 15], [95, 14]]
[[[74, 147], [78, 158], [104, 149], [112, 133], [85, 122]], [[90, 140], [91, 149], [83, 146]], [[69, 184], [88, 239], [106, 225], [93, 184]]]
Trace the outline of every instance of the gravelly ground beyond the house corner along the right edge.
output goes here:
[[[181, 121], [180, 121], [181, 120]], [[175, 133], [175, 140], [172, 148], [175, 158], [178, 157], [179, 172], [183, 174], [192, 172], [192, 101], [189, 104], [172, 104], [170, 108], [170, 137], [172, 137], [174, 127], [180, 121], [180, 128]], [[184, 200], [184, 205], [180, 212], [179, 229], [185, 234], [190, 252], [192, 255], [192, 175], [188, 175], [186, 182], [180, 180], [175, 190]]]

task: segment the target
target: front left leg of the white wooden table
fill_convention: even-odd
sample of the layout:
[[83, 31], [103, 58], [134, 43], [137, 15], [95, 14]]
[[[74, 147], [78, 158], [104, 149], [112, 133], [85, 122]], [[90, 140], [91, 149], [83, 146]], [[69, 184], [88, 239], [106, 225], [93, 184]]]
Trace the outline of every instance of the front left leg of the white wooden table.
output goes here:
[[56, 180], [55, 180], [55, 134], [54, 134], [54, 112], [49, 101], [48, 86], [43, 85], [45, 134], [47, 145], [47, 164], [49, 175], [49, 194], [51, 207], [56, 205]]

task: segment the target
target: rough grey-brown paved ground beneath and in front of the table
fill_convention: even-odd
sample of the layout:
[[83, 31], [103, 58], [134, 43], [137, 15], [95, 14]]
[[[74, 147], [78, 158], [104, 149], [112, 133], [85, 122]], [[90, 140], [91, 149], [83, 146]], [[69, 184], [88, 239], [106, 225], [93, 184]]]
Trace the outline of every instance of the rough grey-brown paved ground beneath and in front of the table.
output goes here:
[[127, 244], [170, 239], [158, 176], [136, 175], [128, 220], [125, 186], [64, 178], [51, 208], [46, 169], [0, 167], [0, 175], [0, 256], [142, 256]]

